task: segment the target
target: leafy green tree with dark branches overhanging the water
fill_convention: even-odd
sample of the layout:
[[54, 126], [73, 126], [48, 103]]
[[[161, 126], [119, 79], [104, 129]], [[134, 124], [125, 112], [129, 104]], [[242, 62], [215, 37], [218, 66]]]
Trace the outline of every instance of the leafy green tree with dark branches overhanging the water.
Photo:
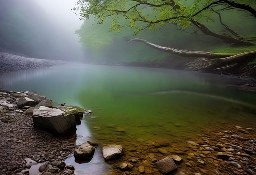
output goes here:
[[[175, 24], [180, 26], [181, 30], [192, 26], [196, 27], [197, 30], [192, 34], [201, 32], [219, 38], [233, 46], [254, 46], [255, 32], [245, 35], [244, 31], [236, 31], [237, 28], [224, 19], [227, 18], [227, 13], [233, 12], [240, 14], [239, 19], [236, 19], [237, 21], [243, 19], [255, 24], [255, 7], [256, 2], [254, 0], [193, 0], [192, 2], [185, 0], [78, 0], [77, 7], [74, 10], [79, 10], [81, 19], [84, 20], [96, 16], [99, 24], [104, 23], [104, 20], [108, 18], [112, 18], [110, 31], [120, 31], [122, 27], [130, 26], [134, 28], [134, 34], [138, 34], [143, 30], [158, 30], [168, 24]], [[209, 25], [209, 22], [216, 22], [216, 20], [218, 20], [218, 30], [216, 30], [216, 27]], [[243, 22], [242, 25], [245, 25], [245, 23]], [[149, 42], [140, 39], [130, 41], [149, 44]], [[191, 51], [188, 52], [192, 53]], [[254, 55], [254, 53], [250, 52], [248, 54]], [[232, 65], [223, 64], [223, 60], [232, 60], [232, 62], [233, 60], [240, 60], [241, 55], [237, 54], [217, 54], [218, 56], [214, 57], [214, 65], [225, 68], [232, 67]], [[242, 58], [248, 54], [243, 54]], [[225, 58], [227, 56], [232, 57]], [[222, 60], [221, 64], [219, 64], [220, 60]]]

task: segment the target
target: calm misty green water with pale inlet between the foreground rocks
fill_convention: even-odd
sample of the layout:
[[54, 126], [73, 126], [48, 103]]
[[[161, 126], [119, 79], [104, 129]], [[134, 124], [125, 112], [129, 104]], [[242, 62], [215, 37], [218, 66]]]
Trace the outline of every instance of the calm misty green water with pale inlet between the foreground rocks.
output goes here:
[[0, 74], [3, 89], [36, 91], [57, 103], [93, 110], [77, 128], [77, 143], [91, 139], [100, 146], [90, 163], [67, 160], [83, 169], [78, 174], [109, 172], [101, 155], [104, 144], [136, 147], [159, 138], [186, 142], [205, 128], [255, 128], [256, 94], [226, 84], [212, 74], [83, 64]]

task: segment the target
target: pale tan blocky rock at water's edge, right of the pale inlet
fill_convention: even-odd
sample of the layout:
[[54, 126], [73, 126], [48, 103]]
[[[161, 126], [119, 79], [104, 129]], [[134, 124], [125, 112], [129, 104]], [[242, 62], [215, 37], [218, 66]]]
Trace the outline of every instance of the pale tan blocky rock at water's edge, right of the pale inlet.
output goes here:
[[105, 161], [114, 159], [122, 155], [122, 145], [105, 145], [102, 147], [102, 153]]

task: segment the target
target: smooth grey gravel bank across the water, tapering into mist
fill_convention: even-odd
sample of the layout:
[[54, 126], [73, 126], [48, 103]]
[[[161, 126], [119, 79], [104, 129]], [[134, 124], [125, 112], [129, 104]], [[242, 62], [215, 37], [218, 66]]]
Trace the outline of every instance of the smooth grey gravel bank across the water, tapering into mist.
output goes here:
[[28, 58], [18, 54], [1, 52], [0, 51], [0, 73], [11, 72], [16, 70], [27, 70], [59, 64], [67, 64], [61, 60], [44, 60], [36, 58]]

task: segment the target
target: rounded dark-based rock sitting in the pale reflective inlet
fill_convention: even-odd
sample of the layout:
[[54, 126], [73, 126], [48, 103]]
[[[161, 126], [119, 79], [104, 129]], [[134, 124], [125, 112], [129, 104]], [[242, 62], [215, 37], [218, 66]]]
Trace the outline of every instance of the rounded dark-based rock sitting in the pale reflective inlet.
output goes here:
[[94, 155], [95, 148], [85, 142], [75, 149], [74, 156], [76, 159], [90, 161]]

